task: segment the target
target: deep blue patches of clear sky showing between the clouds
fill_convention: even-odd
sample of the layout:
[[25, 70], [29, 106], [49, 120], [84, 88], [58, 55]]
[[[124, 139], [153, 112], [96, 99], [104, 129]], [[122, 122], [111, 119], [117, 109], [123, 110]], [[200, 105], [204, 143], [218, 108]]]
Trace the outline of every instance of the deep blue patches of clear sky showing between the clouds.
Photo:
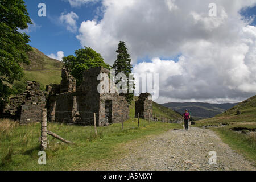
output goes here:
[[[40, 51], [49, 55], [51, 53], [57, 53], [57, 51], [63, 51], [64, 55], [71, 55], [76, 49], [82, 48], [79, 40], [76, 38], [77, 34], [74, 34], [67, 30], [64, 24], [59, 20], [61, 13], [67, 14], [71, 11], [79, 16], [77, 19], [77, 26], [79, 28], [82, 21], [93, 20], [97, 16], [97, 21], [101, 20], [101, 16], [98, 16], [98, 8], [101, 7], [101, 1], [86, 3], [80, 7], [71, 7], [68, 0], [25, 0], [30, 14], [30, 18], [35, 22], [36, 27], [28, 32], [30, 35], [30, 45], [38, 48]], [[38, 16], [38, 4], [46, 4], [46, 17]], [[256, 15], [256, 6], [253, 8], [243, 9], [241, 14], [245, 17]], [[256, 24], [256, 19], [251, 23]], [[160, 56], [163, 60], [175, 60], [177, 61], [181, 54]], [[144, 56], [138, 57], [138, 63], [150, 62], [152, 57]]]

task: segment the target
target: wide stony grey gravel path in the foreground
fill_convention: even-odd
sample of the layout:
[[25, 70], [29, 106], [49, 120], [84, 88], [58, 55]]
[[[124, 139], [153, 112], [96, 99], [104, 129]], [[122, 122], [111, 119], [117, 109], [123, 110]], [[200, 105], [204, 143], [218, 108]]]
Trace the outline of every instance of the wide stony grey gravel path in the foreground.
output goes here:
[[[223, 143], [212, 130], [196, 127], [170, 130], [147, 137], [141, 143], [125, 144], [128, 152], [100, 168], [106, 170], [255, 170], [252, 162]], [[209, 164], [216, 151], [217, 165]]]

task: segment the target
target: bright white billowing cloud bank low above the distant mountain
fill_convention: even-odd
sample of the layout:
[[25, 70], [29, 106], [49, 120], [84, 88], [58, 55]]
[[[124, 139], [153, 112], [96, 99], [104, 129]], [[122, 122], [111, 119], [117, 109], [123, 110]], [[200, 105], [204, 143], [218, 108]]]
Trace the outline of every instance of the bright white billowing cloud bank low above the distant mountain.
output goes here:
[[244, 27], [240, 36], [232, 45], [188, 42], [179, 61], [155, 58], [133, 72], [159, 73], [158, 102], [244, 100], [256, 93], [256, 27]]

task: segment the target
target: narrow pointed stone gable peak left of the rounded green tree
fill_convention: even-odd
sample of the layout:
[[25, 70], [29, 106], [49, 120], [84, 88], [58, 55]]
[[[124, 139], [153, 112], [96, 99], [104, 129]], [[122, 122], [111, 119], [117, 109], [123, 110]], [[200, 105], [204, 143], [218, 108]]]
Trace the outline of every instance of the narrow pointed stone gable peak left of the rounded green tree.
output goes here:
[[76, 92], [76, 79], [71, 75], [68, 69], [63, 66], [61, 70], [60, 93]]

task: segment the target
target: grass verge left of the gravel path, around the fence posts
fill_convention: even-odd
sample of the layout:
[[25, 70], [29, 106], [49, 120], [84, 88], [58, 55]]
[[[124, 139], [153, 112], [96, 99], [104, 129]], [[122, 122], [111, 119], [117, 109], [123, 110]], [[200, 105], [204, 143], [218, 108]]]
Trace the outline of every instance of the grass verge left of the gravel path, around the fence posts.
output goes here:
[[[151, 122], [140, 119], [140, 128], [136, 118], [108, 127], [98, 127], [98, 136], [93, 126], [67, 126], [49, 123], [47, 130], [70, 140], [75, 145], [67, 145], [48, 135], [47, 164], [38, 164], [40, 123], [19, 126], [15, 122], [0, 121], [0, 170], [72, 170], [87, 166], [94, 160], [113, 159], [122, 154], [115, 147], [130, 140], [156, 135], [180, 125]], [[119, 148], [119, 150], [116, 150]]]

